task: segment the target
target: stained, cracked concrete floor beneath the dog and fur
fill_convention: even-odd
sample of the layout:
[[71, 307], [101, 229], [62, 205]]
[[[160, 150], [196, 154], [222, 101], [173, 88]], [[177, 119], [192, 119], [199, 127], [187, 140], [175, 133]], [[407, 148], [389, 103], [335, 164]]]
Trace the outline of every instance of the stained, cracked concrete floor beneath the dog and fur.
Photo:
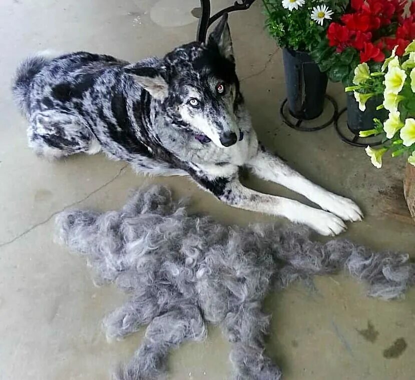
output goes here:
[[[231, 1], [213, 0], [214, 10]], [[342, 237], [376, 249], [415, 254], [415, 226], [402, 195], [404, 163], [374, 169], [362, 149], [339, 141], [333, 127], [305, 134], [278, 115], [284, 98], [281, 52], [263, 30], [258, 1], [230, 18], [238, 73], [259, 137], [292, 166], [328, 189], [356, 200], [366, 214]], [[47, 48], [107, 53], [130, 61], [163, 55], [193, 39], [198, 0], [2, 0], [0, 2], [0, 379], [106, 379], [132, 355], [143, 332], [107, 343], [105, 313], [122, 303], [115, 287], [95, 288], [84, 260], [53, 243], [54, 216], [67, 207], [120, 207], [128, 190], [144, 182], [191, 194], [193, 207], [217, 220], [271, 220], [220, 204], [183, 178], [144, 178], [102, 155], [60, 162], [37, 158], [26, 146], [26, 121], [12, 104], [10, 81], [20, 60]], [[340, 105], [340, 86], [328, 93]], [[289, 194], [249, 178], [259, 190]], [[415, 291], [404, 300], [368, 299], [364, 286], [344, 276], [315, 280], [272, 294], [269, 352], [286, 380], [411, 380], [415, 378]], [[369, 322], [370, 321], [370, 322]], [[359, 333], [372, 324], [370, 334]], [[370, 332], [369, 331], [369, 332]], [[366, 335], [364, 338], [363, 335]], [[367, 335], [374, 337], [367, 340]], [[384, 350], [403, 338], [397, 357]], [[172, 379], [228, 377], [228, 343], [216, 328], [203, 344], [189, 343], [171, 356]]]

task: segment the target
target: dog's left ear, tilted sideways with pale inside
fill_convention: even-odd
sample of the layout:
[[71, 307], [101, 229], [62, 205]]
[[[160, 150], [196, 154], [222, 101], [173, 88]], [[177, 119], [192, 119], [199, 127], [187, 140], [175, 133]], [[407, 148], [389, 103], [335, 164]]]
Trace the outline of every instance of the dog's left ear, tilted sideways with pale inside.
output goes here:
[[134, 81], [150, 95], [158, 100], [165, 100], [168, 95], [169, 85], [166, 81], [166, 75], [160, 67], [143, 66], [143, 64], [129, 65], [124, 71], [133, 76]]

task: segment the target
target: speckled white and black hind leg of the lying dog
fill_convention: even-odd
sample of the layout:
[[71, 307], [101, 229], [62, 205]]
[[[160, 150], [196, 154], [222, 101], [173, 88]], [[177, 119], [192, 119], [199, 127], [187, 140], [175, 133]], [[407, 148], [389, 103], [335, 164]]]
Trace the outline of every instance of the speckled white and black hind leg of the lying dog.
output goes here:
[[31, 118], [28, 143], [37, 155], [61, 158], [101, 150], [97, 139], [77, 119], [59, 112], [45, 112]]

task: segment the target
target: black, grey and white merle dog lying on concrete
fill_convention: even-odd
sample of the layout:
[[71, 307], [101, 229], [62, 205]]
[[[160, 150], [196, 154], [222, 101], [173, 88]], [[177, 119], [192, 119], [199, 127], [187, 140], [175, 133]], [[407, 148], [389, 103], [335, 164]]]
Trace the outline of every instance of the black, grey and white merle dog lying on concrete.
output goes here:
[[[60, 158], [105, 152], [140, 173], [187, 175], [224, 203], [283, 216], [322, 235], [362, 218], [351, 200], [313, 184], [257, 140], [235, 71], [224, 15], [207, 43], [135, 64], [86, 52], [40, 54], [18, 69], [14, 98], [29, 146]], [[321, 209], [244, 187], [241, 167], [300, 193]]]

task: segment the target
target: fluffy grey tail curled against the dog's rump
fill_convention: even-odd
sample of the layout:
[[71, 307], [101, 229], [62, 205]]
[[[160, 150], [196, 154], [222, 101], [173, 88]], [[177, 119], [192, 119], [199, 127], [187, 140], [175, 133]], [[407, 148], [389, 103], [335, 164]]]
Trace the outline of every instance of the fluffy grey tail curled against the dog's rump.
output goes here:
[[22, 113], [29, 116], [30, 85], [33, 78], [54, 58], [60, 54], [52, 51], [44, 51], [23, 61], [13, 79], [12, 92], [16, 104]]

